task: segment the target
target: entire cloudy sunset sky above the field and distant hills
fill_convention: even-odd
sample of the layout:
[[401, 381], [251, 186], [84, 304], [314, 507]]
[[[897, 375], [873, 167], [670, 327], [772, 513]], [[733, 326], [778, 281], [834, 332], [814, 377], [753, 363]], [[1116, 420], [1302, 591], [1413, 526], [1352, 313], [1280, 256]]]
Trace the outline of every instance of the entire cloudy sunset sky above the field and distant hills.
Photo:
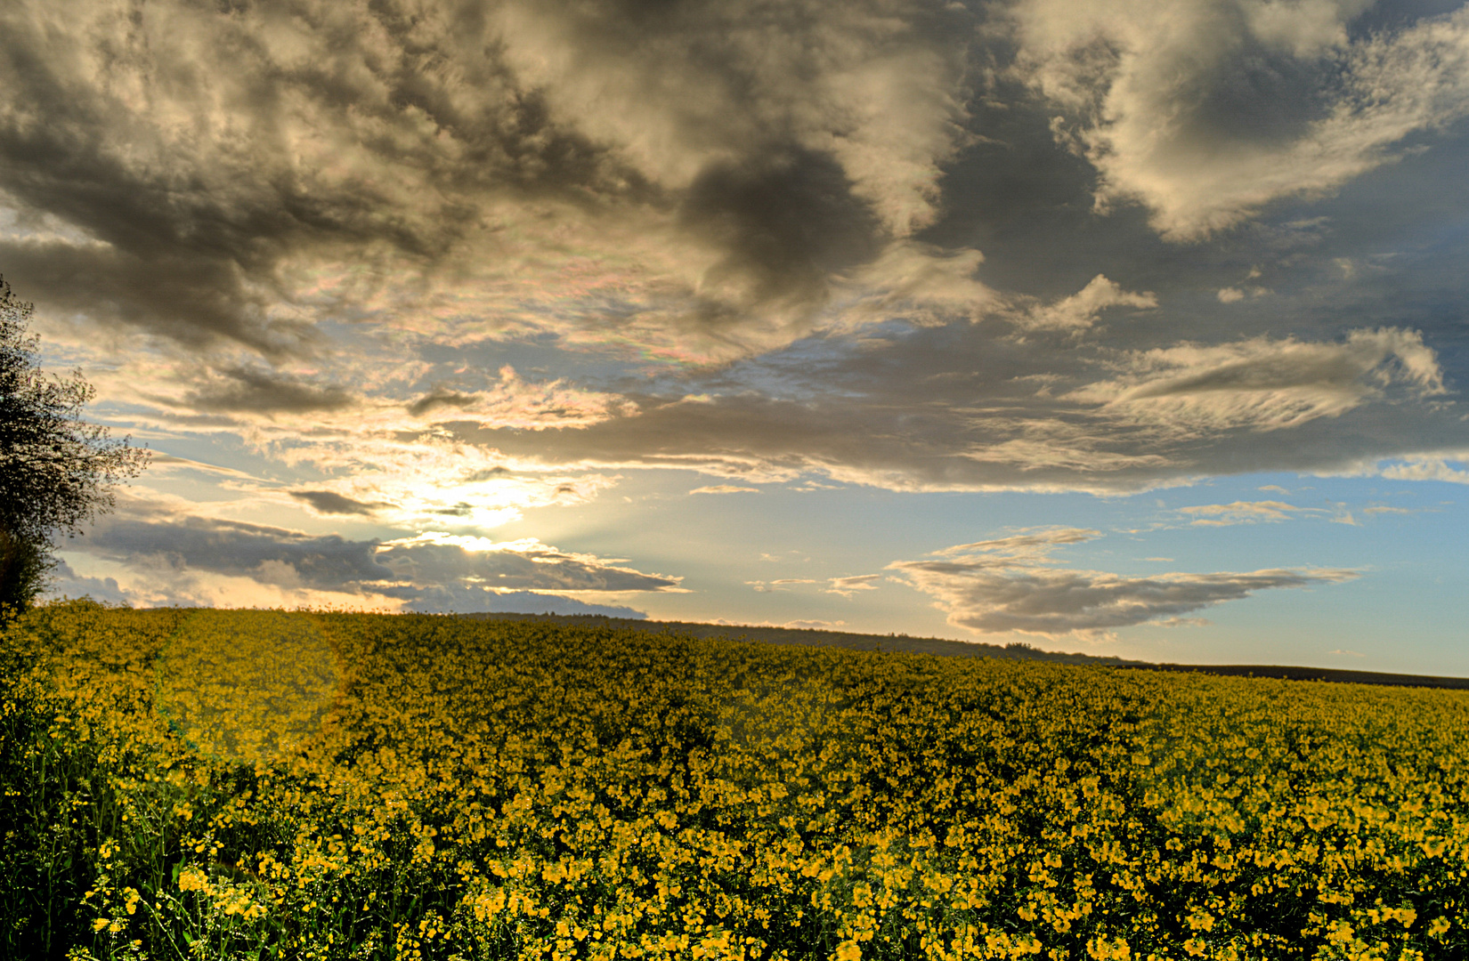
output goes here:
[[1469, 7], [10, 0], [54, 591], [1469, 675]]

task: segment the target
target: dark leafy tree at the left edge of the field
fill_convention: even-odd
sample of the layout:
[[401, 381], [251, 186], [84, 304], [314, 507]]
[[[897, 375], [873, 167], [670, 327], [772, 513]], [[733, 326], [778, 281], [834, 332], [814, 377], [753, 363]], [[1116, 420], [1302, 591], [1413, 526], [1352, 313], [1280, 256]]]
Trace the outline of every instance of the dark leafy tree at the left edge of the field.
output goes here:
[[56, 566], [53, 540], [116, 503], [113, 486], [147, 467], [148, 450], [113, 440], [81, 411], [94, 389], [37, 365], [32, 305], [0, 276], [0, 609], [25, 609]]

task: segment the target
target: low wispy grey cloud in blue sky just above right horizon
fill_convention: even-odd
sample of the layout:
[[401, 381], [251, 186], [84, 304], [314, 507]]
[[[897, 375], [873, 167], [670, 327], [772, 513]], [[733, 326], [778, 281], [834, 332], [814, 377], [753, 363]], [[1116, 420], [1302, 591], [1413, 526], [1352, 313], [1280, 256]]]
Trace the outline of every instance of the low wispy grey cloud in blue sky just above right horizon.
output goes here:
[[1068, 571], [1046, 555], [1090, 540], [1094, 531], [1058, 528], [993, 541], [964, 544], [931, 560], [887, 565], [917, 590], [937, 599], [949, 624], [978, 634], [1036, 634], [1109, 638], [1140, 624], [1178, 625], [1181, 615], [1255, 591], [1335, 584], [1357, 577], [1338, 569], [1265, 569], [1244, 574], [1159, 574], [1124, 577], [1102, 571]]

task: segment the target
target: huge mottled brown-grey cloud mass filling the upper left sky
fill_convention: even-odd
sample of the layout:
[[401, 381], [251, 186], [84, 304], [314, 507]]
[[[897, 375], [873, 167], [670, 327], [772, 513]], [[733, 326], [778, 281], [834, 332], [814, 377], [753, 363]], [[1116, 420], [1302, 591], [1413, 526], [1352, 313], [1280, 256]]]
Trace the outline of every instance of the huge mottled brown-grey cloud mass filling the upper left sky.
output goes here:
[[322, 321], [737, 357], [931, 224], [968, 141], [958, 4], [292, 10], [7, 10], [0, 260], [37, 301], [272, 359]]

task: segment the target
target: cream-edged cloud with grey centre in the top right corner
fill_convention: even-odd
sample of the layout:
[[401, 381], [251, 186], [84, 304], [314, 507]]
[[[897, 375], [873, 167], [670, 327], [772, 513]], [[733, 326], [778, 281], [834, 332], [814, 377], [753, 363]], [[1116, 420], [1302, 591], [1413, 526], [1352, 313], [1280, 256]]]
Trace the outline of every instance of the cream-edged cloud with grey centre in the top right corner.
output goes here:
[[1028, 0], [1015, 73], [1065, 110], [1099, 207], [1147, 205], [1199, 241], [1284, 197], [1321, 197], [1469, 116], [1469, 10], [1353, 40], [1368, 0]]

